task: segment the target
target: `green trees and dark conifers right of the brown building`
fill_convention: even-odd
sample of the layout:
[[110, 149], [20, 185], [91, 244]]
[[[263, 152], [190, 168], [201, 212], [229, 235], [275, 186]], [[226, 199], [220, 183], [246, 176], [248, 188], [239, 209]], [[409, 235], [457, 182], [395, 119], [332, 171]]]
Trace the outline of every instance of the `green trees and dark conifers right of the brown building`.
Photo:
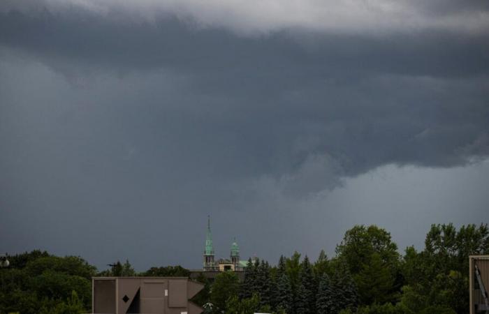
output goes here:
[[222, 273], [208, 286], [207, 313], [469, 313], [469, 255], [489, 254], [487, 224], [432, 225], [425, 247], [397, 251], [375, 225], [346, 231], [335, 256], [300, 253], [277, 266], [249, 260], [245, 279]]

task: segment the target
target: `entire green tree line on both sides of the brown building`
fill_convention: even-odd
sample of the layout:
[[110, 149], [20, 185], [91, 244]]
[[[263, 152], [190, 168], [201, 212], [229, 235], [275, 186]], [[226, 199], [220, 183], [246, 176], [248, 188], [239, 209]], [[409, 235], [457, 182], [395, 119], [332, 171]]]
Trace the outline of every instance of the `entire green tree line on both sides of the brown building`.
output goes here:
[[[298, 252], [276, 265], [248, 260], [244, 280], [222, 272], [193, 301], [205, 313], [368, 314], [468, 313], [469, 255], [489, 254], [487, 224], [432, 225], [425, 247], [403, 254], [391, 234], [375, 225], [347, 230], [334, 257]], [[97, 271], [81, 257], [32, 251], [9, 257], [0, 269], [0, 313], [87, 313], [92, 276], [189, 276], [180, 266], [137, 273], [126, 260]]]

